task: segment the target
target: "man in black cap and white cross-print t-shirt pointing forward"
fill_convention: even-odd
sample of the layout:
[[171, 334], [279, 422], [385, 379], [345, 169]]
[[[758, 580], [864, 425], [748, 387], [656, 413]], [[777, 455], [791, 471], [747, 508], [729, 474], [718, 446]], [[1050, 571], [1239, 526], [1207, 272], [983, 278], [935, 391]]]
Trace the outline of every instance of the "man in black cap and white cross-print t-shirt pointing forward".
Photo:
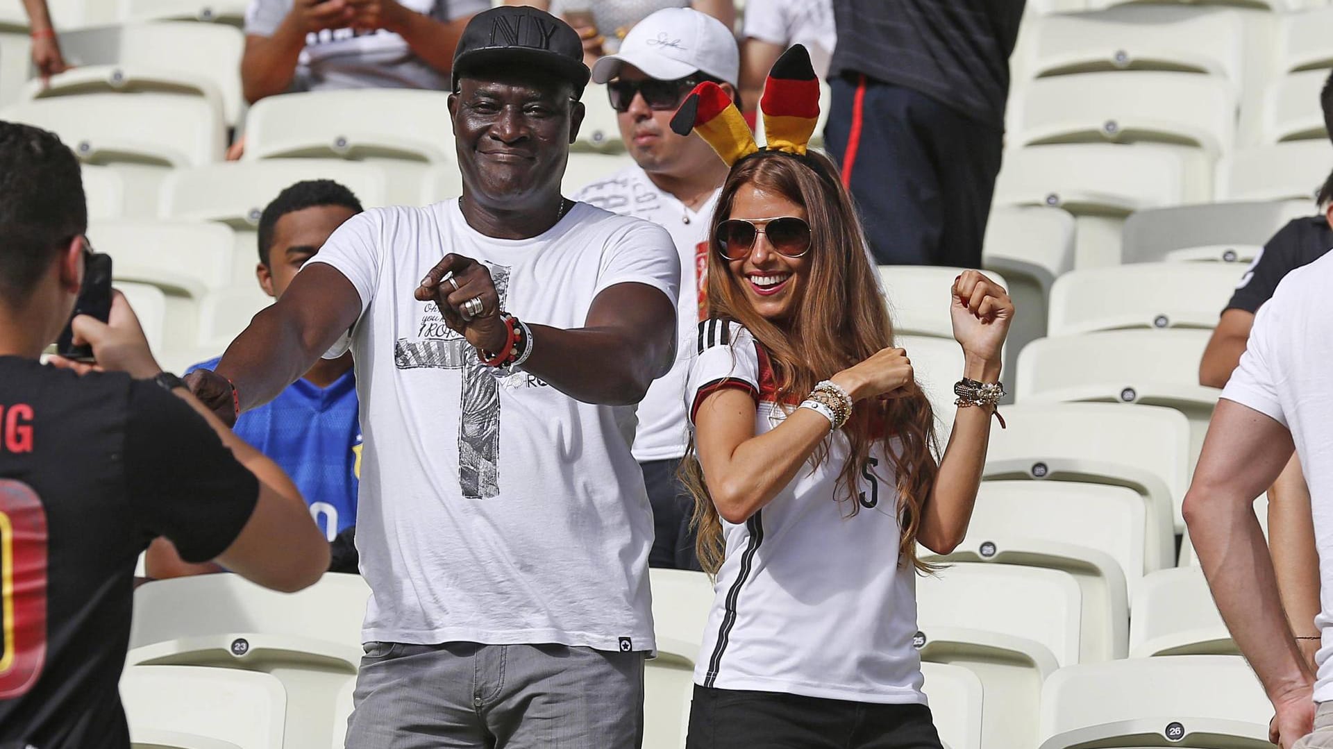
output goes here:
[[213, 408], [252, 408], [351, 345], [372, 596], [349, 748], [641, 741], [652, 514], [631, 444], [674, 360], [680, 261], [661, 227], [560, 195], [588, 75], [564, 21], [479, 13], [449, 97], [463, 196], [343, 224], [192, 374]]

